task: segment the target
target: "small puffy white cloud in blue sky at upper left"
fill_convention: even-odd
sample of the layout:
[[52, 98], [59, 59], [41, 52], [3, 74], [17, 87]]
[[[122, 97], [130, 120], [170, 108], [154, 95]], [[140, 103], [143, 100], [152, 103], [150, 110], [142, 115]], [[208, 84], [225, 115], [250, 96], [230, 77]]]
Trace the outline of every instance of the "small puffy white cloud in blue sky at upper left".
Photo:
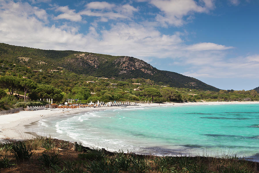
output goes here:
[[67, 19], [74, 22], [79, 22], [82, 20], [81, 15], [75, 13], [75, 10], [70, 10], [68, 6], [57, 7], [55, 11], [62, 12], [62, 14], [59, 14], [58, 16], [54, 17], [54, 20]]

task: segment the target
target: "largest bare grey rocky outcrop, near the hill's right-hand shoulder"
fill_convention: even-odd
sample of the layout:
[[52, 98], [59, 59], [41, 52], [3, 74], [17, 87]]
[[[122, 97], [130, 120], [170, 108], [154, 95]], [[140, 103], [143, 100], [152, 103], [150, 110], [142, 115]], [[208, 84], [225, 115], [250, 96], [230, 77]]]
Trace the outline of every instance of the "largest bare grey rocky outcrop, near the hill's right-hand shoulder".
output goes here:
[[115, 64], [115, 68], [117, 67], [120, 69], [119, 74], [127, 73], [131, 70], [136, 69], [139, 69], [142, 72], [150, 75], [156, 73], [156, 71], [153, 70], [153, 67], [150, 64], [133, 57], [119, 57], [115, 59], [113, 63]]

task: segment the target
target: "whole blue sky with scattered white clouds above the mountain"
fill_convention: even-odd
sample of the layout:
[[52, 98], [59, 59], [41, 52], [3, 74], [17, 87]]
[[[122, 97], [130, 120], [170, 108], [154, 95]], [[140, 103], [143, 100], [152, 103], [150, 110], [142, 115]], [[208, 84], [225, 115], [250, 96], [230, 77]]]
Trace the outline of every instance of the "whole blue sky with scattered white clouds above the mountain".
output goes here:
[[219, 89], [259, 86], [258, 0], [0, 0], [0, 42], [142, 59]]

